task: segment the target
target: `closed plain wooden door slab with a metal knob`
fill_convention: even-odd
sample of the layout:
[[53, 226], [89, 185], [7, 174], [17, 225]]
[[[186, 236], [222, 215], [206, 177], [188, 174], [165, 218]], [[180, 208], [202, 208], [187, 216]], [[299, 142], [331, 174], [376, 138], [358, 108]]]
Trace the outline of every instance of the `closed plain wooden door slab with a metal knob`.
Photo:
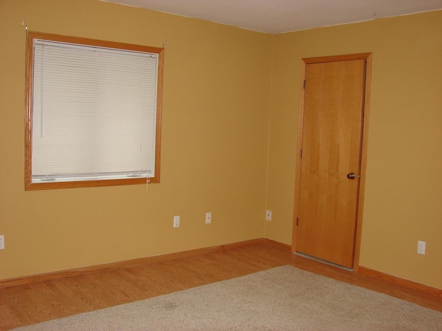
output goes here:
[[352, 268], [365, 59], [305, 65], [296, 251]]

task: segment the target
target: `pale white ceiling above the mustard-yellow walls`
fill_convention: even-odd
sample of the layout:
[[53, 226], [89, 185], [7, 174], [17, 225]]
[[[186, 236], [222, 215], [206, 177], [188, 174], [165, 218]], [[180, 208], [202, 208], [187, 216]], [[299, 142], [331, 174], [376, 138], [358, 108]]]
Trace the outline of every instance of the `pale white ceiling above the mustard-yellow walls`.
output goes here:
[[101, 0], [266, 33], [441, 10], [442, 0]]

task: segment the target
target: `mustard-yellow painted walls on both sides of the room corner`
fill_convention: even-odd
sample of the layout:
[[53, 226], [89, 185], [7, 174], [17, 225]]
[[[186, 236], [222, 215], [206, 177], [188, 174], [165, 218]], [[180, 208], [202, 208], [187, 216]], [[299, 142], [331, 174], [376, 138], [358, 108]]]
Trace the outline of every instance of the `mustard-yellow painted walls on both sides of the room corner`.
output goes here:
[[[160, 184], [24, 191], [22, 19], [169, 41]], [[300, 59], [372, 52], [360, 264], [442, 288], [441, 36], [442, 11], [271, 36], [95, 0], [1, 0], [0, 279], [260, 237], [291, 244]]]

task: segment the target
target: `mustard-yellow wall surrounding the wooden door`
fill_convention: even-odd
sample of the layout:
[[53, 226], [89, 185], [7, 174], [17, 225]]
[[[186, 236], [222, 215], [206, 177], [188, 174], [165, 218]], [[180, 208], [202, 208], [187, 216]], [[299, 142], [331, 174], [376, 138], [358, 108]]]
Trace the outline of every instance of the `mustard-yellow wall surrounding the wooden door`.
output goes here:
[[274, 36], [267, 237], [291, 243], [301, 59], [360, 52], [373, 54], [360, 265], [442, 288], [442, 11]]

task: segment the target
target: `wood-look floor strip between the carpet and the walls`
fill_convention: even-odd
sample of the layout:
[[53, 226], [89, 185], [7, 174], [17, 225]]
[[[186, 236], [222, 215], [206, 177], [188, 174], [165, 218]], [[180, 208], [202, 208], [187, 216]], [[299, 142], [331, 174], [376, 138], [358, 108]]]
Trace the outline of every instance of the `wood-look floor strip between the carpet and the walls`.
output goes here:
[[384, 292], [442, 312], [439, 297], [292, 254], [272, 241], [198, 257], [0, 289], [0, 331], [147, 299], [279, 265]]

